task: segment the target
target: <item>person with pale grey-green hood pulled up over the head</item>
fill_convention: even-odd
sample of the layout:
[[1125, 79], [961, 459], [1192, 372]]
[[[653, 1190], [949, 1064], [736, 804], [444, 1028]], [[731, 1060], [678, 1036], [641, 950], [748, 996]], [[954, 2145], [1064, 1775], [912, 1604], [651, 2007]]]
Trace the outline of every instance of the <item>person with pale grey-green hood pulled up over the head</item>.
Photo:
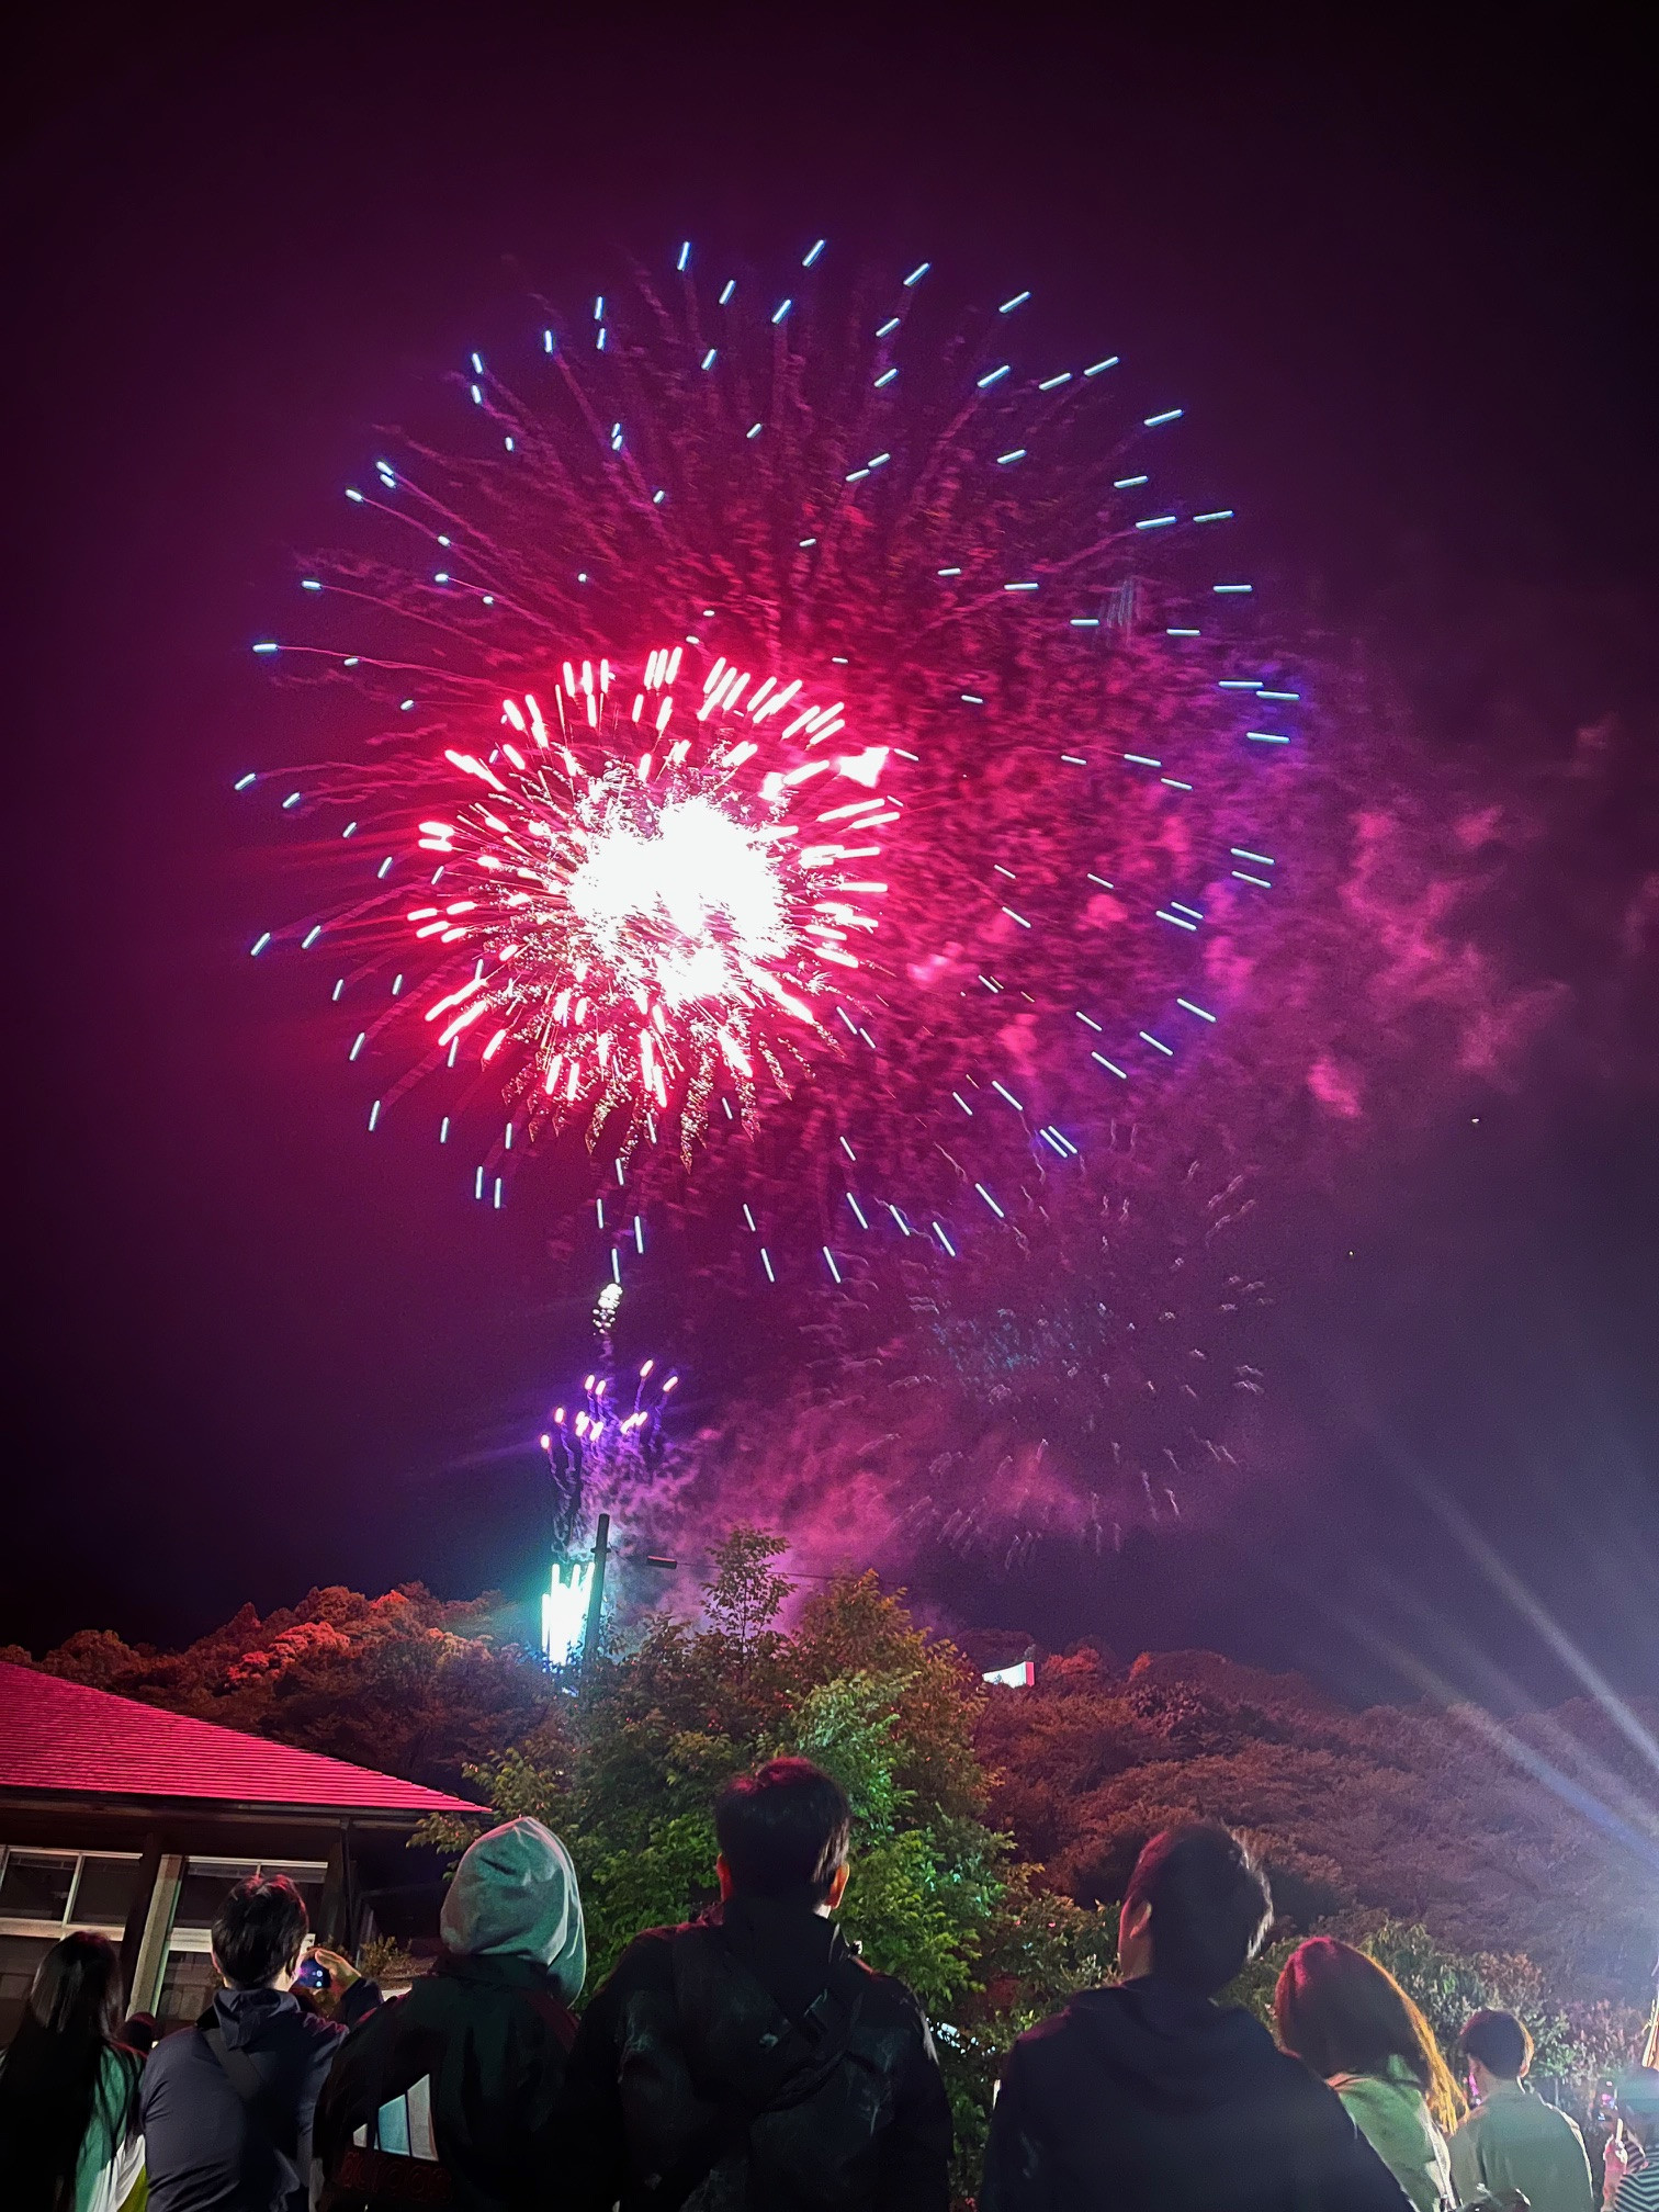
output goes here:
[[549, 2201], [571, 2004], [588, 1971], [560, 1838], [540, 1820], [480, 1836], [445, 1893], [440, 1936], [431, 1973], [334, 2059], [316, 2112], [325, 2203], [374, 2203], [387, 2183], [394, 2194], [407, 2161], [440, 2166], [458, 2212]]

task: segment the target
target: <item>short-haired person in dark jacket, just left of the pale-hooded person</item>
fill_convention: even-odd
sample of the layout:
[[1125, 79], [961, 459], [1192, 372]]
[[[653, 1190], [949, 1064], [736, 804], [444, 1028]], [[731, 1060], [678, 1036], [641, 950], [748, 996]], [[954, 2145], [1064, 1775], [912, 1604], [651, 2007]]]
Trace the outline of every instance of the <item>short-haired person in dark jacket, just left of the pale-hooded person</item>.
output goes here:
[[347, 2028], [380, 2002], [349, 1960], [319, 1949], [343, 1991], [338, 2020], [303, 2013], [294, 1975], [307, 1936], [305, 1900], [283, 1874], [237, 1882], [212, 1916], [226, 1986], [144, 2064], [148, 2212], [305, 2212], [316, 2099]]

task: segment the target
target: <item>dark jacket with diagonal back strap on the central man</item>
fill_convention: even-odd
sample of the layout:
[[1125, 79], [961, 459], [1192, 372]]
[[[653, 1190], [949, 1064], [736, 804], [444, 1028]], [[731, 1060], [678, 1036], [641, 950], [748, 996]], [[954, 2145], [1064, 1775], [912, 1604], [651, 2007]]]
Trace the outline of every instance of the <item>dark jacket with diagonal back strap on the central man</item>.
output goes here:
[[[916, 1997], [796, 1905], [650, 1929], [582, 2015], [562, 2203], [945, 2212], [951, 2112]], [[710, 2166], [712, 2154], [712, 2166]]]

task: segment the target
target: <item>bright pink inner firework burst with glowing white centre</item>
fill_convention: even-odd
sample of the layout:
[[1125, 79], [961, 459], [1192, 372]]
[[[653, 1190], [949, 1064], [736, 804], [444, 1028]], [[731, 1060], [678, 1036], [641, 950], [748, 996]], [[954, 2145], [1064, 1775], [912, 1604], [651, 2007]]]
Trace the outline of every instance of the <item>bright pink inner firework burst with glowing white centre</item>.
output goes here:
[[845, 701], [726, 657], [681, 706], [681, 659], [655, 648], [635, 686], [564, 661], [549, 710], [504, 699], [484, 757], [445, 750], [482, 792], [418, 825], [436, 867], [405, 920], [447, 956], [425, 1026], [502, 1055], [531, 1133], [619, 1113], [622, 1150], [664, 1121], [688, 1155], [714, 1095], [745, 1117], [763, 1071], [787, 1095], [832, 1044], [821, 1002], [876, 929], [887, 748], [847, 750]]

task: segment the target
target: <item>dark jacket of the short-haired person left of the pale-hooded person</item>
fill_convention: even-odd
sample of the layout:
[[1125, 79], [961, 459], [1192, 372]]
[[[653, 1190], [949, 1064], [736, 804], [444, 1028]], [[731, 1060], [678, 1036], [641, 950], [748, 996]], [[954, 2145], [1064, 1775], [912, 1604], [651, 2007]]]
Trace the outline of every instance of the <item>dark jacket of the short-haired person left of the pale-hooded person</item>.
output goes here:
[[[336, 2024], [274, 1989], [221, 1989], [195, 2028], [166, 2035], [139, 2081], [150, 2212], [305, 2212], [316, 2097], [336, 2046], [378, 2002], [374, 1982], [354, 1982]], [[212, 2026], [257, 2066], [261, 2110], [215, 2057]]]

